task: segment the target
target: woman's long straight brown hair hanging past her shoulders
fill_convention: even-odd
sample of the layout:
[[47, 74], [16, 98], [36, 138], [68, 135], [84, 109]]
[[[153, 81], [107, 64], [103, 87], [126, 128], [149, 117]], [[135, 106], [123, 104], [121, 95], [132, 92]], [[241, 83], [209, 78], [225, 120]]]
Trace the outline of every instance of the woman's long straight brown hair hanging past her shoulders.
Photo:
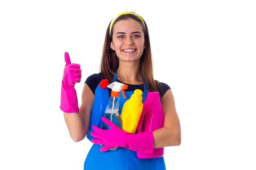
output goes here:
[[[133, 19], [139, 22], [143, 28], [144, 32], [144, 39], [145, 39], [145, 49], [143, 54], [141, 55], [140, 58], [140, 69], [141, 73], [144, 77], [144, 81], [146, 83], [146, 86], [148, 88], [148, 91], [155, 91], [157, 92], [157, 84], [159, 83], [158, 81], [154, 80], [153, 77], [153, 60], [152, 60], [152, 53], [151, 53], [151, 48], [150, 48], [150, 40], [149, 40], [149, 35], [148, 35], [148, 27], [146, 22], [144, 23], [141, 21], [139, 17], [136, 15], [133, 15], [131, 13], [123, 14], [120, 15], [114, 22], [113, 26], [115, 25], [116, 22], [120, 20], [128, 20], [128, 19]], [[115, 53], [114, 50], [110, 48], [110, 42], [112, 42], [112, 31], [110, 33], [110, 24], [108, 25], [108, 29], [106, 31], [105, 35], [105, 42], [103, 45], [103, 53], [101, 56], [101, 65], [100, 65], [100, 72], [103, 74], [104, 79], [108, 79], [110, 83], [112, 83], [113, 80], [113, 75], [115, 74], [115, 70], [119, 66], [119, 59]], [[118, 75], [117, 75], [118, 77]]]

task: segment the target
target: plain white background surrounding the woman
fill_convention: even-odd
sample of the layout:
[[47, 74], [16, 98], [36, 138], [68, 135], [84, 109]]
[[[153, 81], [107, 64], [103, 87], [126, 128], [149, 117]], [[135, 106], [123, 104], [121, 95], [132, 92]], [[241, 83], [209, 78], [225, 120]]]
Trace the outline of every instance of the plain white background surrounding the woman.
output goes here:
[[133, 11], [148, 24], [155, 79], [171, 86], [181, 121], [166, 169], [255, 170], [253, 2], [2, 0], [0, 169], [83, 170], [91, 143], [72, 141], [59, 109], [64, 53], [81, 65], [80, 105], [110, 20]]

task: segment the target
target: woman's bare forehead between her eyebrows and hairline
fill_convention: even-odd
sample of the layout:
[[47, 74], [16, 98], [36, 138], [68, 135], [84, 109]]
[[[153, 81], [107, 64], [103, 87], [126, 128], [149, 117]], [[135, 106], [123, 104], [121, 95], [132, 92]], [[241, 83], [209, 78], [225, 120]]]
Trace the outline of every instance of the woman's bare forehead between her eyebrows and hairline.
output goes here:
[[126, 32], [135, 32], [135, 31], [139, 31], [143, 33], [141, 24], [138, 21], [133, 19], [119, 20], [115, 22], [113, 26], [113, 33], [116, 33], [116, 32], [126, 33]]

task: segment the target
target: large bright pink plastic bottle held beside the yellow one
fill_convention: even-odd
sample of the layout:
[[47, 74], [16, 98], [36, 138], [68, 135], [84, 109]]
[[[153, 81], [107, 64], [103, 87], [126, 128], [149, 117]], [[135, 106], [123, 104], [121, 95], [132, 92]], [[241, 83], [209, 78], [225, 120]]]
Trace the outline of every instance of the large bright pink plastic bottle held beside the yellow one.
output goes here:
[[[143, 110], [139, 119], [137, 132], [153, 131], [164, 127], [164, 114], [158, 92], [148, 92], [143, 102]], [[137, 158], [149, 159], [162, 157], [164, 148], [154, 148], [152, 154], [137, 152]]]

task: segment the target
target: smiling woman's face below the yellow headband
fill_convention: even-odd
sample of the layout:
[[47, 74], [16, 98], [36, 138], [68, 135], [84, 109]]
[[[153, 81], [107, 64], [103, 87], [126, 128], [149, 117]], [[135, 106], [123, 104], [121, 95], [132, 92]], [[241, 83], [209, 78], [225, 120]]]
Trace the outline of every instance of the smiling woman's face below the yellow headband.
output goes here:
[[144, 33], [139, 22], [120, 20], [113, 26], [110, 48], [115, 50], [119, 62], [138, 61], [144, 50]]

